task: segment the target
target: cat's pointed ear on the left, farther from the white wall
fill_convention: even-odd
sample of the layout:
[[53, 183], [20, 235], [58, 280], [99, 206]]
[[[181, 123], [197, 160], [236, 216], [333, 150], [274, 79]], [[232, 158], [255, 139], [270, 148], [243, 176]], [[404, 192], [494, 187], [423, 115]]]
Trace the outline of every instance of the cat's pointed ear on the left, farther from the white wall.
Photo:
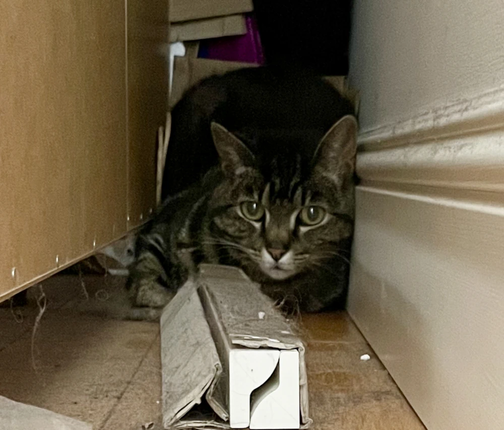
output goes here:
[[254, 155], [238, 137], [216, 122], [212, 122], [210, 129], [226, 175], [233, 176], [243, 168], [254, 166]]

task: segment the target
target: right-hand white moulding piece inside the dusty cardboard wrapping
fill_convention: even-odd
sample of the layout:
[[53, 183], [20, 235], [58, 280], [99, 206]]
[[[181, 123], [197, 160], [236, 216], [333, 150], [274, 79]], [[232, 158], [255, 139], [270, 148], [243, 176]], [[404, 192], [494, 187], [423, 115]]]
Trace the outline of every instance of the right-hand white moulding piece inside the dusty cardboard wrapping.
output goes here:
[[280, 351], [275, 375], [253, 395], [250, 429], [299, 428], [299, 352]]

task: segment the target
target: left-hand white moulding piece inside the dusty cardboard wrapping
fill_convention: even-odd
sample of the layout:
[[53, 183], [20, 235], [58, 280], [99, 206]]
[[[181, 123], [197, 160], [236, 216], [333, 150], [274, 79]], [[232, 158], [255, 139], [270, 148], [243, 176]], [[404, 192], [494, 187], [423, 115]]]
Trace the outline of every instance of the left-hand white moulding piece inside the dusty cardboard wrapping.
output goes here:
[[[278, 365], [279, 357], [280, 350], [278, 349], [232, 348], [229, 351], [229, 425], [231, 428], [248, 427], [250, 394], [270, 378]], [[299, 377], [297, 384], [299, 389]], [[299, 414], [299, 404], [297, 411]]]

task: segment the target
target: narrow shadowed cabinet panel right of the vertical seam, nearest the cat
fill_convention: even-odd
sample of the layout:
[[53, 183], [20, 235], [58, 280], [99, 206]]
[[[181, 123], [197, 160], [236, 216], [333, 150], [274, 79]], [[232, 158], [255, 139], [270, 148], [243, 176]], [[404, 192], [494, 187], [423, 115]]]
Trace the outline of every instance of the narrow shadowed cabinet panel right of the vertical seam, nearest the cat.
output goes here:
[[128, 0], [128, 219], [142, 224], [156, 205], [157, 131], [168, 109], [167, 0]]

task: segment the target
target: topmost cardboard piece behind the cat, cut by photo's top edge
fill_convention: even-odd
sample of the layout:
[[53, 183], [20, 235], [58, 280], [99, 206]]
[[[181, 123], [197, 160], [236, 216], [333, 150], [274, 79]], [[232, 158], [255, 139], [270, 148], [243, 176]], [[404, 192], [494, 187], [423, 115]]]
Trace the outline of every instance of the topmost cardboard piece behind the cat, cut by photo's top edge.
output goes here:
[[253, 10], [252, 0], [171, 0], [170, 22], [223, 17]]

